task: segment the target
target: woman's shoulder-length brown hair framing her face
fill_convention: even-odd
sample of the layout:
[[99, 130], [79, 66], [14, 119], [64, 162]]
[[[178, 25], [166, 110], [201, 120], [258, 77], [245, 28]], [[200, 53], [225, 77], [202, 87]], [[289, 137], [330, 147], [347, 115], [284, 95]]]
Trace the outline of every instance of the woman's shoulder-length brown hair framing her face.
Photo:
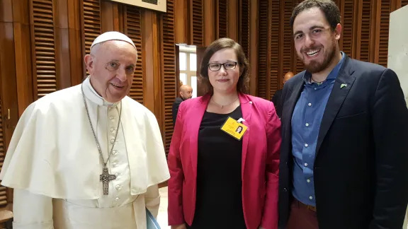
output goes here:
[[212, 93], [212, 85], [208, 79], [208, 62], [215, 52], [221, 49], [234, 49], [237, 55], [237, 61], [239, 64], [239, 79], [237, 83], [237, 91], [240, 93], [248, 93], [248, 83], [249, 83], [249, 63], [245, 57], [244, 49], [237, 42], [230, 38], [220, 38], [211, 43], [210, 46], [205, 49], [204, 57], [201, 60], [200, 65], [200, 76], [198, 77], [201, 85], [205, 87], [205, 93]]

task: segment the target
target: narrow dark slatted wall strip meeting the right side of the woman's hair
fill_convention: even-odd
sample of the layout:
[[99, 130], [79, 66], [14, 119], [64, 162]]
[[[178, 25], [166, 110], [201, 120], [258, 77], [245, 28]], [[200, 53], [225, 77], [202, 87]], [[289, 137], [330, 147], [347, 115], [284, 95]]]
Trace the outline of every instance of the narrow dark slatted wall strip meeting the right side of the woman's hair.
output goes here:
[[241, 0], [241, 28], [240, 28], [240, 44], [246, 58], [249, 59], [249, 0]]

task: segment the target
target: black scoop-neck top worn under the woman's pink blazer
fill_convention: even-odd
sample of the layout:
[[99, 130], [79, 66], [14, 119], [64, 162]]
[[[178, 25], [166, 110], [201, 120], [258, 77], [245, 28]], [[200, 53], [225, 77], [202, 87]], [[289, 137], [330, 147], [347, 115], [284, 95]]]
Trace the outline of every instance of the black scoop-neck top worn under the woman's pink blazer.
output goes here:
[[242, 211], [242, 141], [220, 128], [229, 114], [205, 112], [198, 133], [197, 198], [194, 229], [246, 228]]

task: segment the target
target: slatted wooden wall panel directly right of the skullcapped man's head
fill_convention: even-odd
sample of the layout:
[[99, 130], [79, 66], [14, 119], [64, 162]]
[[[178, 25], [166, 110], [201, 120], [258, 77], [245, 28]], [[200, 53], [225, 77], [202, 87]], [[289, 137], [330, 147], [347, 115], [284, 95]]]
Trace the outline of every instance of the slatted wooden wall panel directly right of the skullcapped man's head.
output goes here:
[[143, 70], [142, 70], [142, 28], [140, 25], [140, 8], [126, 6], [125, 13], [125, 34], [132, 39], [137, 49], [137, 64], [133, 78], [132, 88], [130, 88], [130, 98], [143, 104]]

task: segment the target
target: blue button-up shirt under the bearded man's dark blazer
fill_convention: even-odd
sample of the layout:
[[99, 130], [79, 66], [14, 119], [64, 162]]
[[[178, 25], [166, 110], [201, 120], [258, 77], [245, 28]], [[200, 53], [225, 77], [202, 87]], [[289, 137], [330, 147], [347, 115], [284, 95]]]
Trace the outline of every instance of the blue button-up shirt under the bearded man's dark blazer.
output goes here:
[[305, 87], [295, 105], [292, 116], [292, 154], [293, 154], [293, 196], [303, 204], [316, 206], [314, 200], [313, 166], [316, 154], [317, 136], [324, 109], [331, 89], [334, 86], [339, 70], [344, 61], [341, 60], [331, 70], [323, 83], [310, 83], [311, 74], [305, 72]]

